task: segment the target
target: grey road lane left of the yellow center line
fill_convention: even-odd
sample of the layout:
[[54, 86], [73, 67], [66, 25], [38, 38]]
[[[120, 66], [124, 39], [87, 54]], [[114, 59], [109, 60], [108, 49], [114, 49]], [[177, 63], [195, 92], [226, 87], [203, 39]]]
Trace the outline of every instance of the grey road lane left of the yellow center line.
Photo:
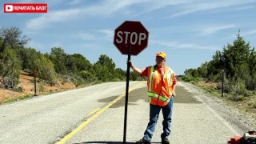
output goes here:
[[[130, 82], [130, 87], [140, 82]], [[126, 82], [109, 82], [0, 106], [0, 143], [58, 142], [99, 107], [126, 90]]]

